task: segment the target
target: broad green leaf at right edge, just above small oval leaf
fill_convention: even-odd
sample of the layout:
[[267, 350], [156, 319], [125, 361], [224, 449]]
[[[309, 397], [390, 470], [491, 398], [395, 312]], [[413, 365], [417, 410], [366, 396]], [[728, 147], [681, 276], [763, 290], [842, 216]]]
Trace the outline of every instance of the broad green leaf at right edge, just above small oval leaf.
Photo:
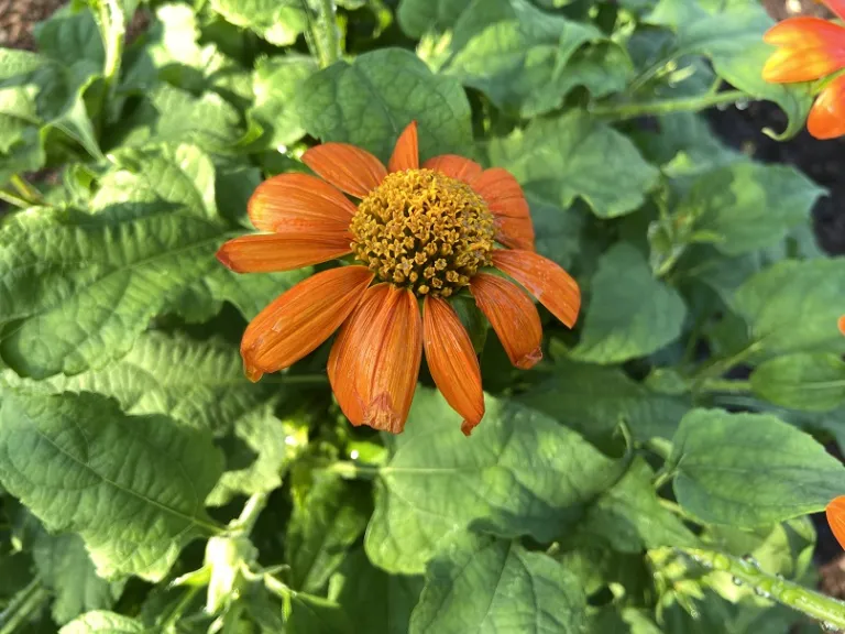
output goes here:
[[743, 284], [732, 307], [768, 353], [843, 352], [845, 259], [779, 262]]

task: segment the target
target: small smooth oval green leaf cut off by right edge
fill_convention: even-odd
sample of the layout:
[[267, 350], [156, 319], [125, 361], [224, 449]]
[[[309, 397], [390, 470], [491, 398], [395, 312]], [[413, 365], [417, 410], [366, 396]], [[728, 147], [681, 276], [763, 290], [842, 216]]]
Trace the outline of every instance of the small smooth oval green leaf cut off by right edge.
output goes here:
[[776, 405], [828, 412], [845, 403], [845, 361], [825, 352], [770, 359], [751, 373], [755, 394]]

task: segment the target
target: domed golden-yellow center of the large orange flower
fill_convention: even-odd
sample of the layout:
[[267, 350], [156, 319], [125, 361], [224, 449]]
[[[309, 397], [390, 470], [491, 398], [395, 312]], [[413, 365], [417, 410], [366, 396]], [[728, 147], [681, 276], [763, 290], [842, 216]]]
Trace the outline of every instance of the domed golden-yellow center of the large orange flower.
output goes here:
[[432, 170], [388, 174], [358, 206], [355, 258], [418, 296], [449, 297], [491, 263], [493, 215], [472, 188]]

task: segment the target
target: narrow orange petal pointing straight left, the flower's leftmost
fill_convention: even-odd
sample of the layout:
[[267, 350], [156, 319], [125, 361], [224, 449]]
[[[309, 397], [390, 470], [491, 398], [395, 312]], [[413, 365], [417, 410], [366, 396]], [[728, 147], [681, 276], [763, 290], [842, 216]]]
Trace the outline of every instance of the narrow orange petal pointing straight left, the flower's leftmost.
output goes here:
[[220, 247], [217, 259], [235, 273], [293, 271], [351, 252], [352, 236], [337, 233], [262, 233], [242, 236]]

